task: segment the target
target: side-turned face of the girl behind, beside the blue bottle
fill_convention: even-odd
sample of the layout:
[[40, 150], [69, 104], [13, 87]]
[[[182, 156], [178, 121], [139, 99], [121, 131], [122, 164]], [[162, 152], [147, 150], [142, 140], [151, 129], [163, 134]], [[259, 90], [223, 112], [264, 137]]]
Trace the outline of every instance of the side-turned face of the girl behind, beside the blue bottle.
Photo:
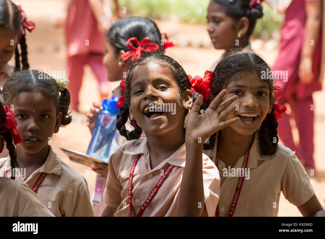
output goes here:
[[[103, 65], [107, 69], [107, 75], [109, 81], [118, 81], [122, 78], [126, 78], [126, 73], [128, 70], [127, 64], [123, 63], [120, 55], [116, 55], [113, 46], [106, 41], [104, 50]], [[121, 62], [121, 64], [119, 64]], [[125, 74], [124, 74], [125, 73]]]

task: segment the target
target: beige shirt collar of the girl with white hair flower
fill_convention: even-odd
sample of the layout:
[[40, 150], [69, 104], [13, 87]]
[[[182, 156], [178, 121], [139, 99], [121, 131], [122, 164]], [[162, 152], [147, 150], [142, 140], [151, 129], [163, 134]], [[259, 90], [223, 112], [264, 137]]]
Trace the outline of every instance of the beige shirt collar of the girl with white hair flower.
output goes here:
[[[61, 175], [62, 174], [62, 165], [61, 165], [61, 160], [57, 156], [56, 153], [53, 152], [52, 147], [48, 145], [48, 156], [46, 158], [45, 163], [37, 169], [39, 172], [45, 172], [45, 173], [54, 173], [56, 175]], [[11, 168], [10, 166], [10, 156], [8, 155], [7, 160], [6, 160], [6, 166], [5, 170], [9, 170]]]

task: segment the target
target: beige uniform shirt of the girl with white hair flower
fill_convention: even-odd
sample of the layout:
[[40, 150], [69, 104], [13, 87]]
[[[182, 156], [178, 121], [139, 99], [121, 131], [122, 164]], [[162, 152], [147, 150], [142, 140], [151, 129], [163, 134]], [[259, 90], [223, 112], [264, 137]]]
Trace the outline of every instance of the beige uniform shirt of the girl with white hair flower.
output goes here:
[[[48, 149], [49, 153], [45, 163], [36, 169], [28, 179], [23, 179], [21, 170], [22, 177], [15, 179], [27, 183], [32, 189], [42, 172], [46, 172], [47, 175], [36, 194], [41, 203], [48, 207], [53, 215], [56, 217], [95, 216], [85, 178], [62, 162], [50, 145]], [[6, 170], [7, 177], [10, 177], [10, 169], [10, 157], [0, 159], [0, 176]]]

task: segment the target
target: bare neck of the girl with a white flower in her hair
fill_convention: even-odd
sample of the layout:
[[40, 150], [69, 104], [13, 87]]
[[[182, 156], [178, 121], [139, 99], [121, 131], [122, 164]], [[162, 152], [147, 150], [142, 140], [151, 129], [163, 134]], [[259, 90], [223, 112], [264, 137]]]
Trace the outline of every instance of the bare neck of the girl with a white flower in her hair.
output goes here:
[[27, 153], [18, 146], [16, 147], [16, 153], [16, 167], [26, 168], [26, 170], [33, 169], [32, 171], [34, 171], [45, 163], [49, 151], [48, 145], [37, 153]]

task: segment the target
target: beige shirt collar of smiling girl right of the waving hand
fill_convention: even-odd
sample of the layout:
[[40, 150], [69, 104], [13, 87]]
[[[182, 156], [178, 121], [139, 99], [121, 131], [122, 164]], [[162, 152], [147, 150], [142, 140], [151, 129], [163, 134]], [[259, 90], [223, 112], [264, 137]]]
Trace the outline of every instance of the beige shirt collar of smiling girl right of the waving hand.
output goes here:
[[[219, 133], [219, 131], [217, 132], [217, 134], [215, 136], [214, 147], [212, 149], [213, 150], [213, 158], [212, 158], [213, 161], [215, 160], [215, 156], [216, 156], [218, 133]], [[211, 153], [210, 153], [210, 155], [211, 155]], [[244, 156], [245, 155], [241, 156], [240, 158], [243, 158]], [[254, 142], [253, 142], [251, 151], [248, 156], [247, 168], [251, 168], [251, 169], [256, 168], [257, 160], [266, 160], [266, 159], [271, 159], [271, 158], [275, 158], [278, 156], [279, 156], [278, 153], [274, 153], [272, 155], [264, 155], [261, 152], [260, 145], [259, 145], [259, 139], [258, 139], [258, 130], [256, 130], [254, 133]]]

